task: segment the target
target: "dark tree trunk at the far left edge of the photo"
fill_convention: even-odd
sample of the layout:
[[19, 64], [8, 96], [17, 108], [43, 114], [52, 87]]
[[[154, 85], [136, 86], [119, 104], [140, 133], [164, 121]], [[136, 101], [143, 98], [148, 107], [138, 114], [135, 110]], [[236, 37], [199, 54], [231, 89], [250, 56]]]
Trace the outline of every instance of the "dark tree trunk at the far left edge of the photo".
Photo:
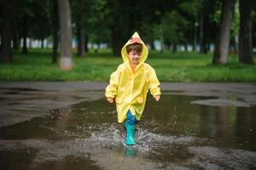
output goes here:
[[1, 38], [1, 61], [3, 63], [11, 63], [13, 59], [11, 51], [11, 8], [10, 5], [5, 1], [2, 3], [3, 9], [3, 29]]

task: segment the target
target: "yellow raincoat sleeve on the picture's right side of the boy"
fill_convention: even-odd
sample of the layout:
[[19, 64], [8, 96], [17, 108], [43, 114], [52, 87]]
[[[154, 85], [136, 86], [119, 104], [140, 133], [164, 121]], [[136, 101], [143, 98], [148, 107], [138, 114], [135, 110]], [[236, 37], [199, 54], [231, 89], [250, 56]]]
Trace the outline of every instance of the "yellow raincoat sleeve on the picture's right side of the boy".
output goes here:
[[160, 82], [155, 74], [154, 68], [148, 65], [148, 88], [153, 96], [160, 95]]

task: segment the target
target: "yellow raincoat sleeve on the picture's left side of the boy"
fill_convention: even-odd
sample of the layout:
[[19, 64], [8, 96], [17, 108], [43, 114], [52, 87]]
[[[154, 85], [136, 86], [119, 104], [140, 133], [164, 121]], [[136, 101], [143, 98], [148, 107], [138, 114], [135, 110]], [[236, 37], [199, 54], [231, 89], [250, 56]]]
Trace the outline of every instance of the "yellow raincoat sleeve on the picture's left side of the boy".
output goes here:
[[114, 98], [117, 93], [117, 88], [119, 85], [119, 74], [120, 74], [120, 69], [118, 68], [116, 71], [114, 71], [109, 80], [108, 87], [106, 88], [105, 96], [107, 98]]

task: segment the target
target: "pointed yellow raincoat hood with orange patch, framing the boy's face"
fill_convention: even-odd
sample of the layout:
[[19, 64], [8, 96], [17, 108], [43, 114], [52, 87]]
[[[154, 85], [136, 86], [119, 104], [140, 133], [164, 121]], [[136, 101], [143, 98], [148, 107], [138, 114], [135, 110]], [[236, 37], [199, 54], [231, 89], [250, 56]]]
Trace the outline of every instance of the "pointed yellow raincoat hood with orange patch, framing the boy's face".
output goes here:
[[137, 31], [134, 32], [134, 34], [132, 35], [132, 37], [128, 40], [128, 42], [125, 43], [124, 47], [121, 49], [121, 54], [122, 54], [122, 58], [124, 60], [125, 65], [130, 65], [129, 63], [129, 56], [127, 54], [126, 51], [126, 46], [132, 44], [132, 43], [141, 43], [143, 44], [143, 51], [141, 54], [141, 59], [139, 64], [137, 65], [137, 67], [139, 67], [140, 65], [143, 64], [143, 62], [148, 58], [148, 48], [145, 45], [145, 43], [143, 42], [143, 40], [141, 39], [141, 37], [138, 35]]

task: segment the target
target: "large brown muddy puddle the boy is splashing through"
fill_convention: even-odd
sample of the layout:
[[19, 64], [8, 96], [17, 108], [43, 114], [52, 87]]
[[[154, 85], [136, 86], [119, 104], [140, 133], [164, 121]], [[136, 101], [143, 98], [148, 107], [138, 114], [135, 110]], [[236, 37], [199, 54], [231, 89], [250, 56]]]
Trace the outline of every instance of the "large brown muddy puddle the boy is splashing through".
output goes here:
[[[253, 169], [256, 107], [192, 105], [209, 97], [148, 97], [135, 146], [105, 99], [0, 128], [4, 169]], [[20, 157], [19, 161], [17, 157]], [[10, 168], [11, 165], [12, 168]], [[20, 167], [20, 168], [18, 168]], [[23, 168], [24, 167], [24, 168]]]

